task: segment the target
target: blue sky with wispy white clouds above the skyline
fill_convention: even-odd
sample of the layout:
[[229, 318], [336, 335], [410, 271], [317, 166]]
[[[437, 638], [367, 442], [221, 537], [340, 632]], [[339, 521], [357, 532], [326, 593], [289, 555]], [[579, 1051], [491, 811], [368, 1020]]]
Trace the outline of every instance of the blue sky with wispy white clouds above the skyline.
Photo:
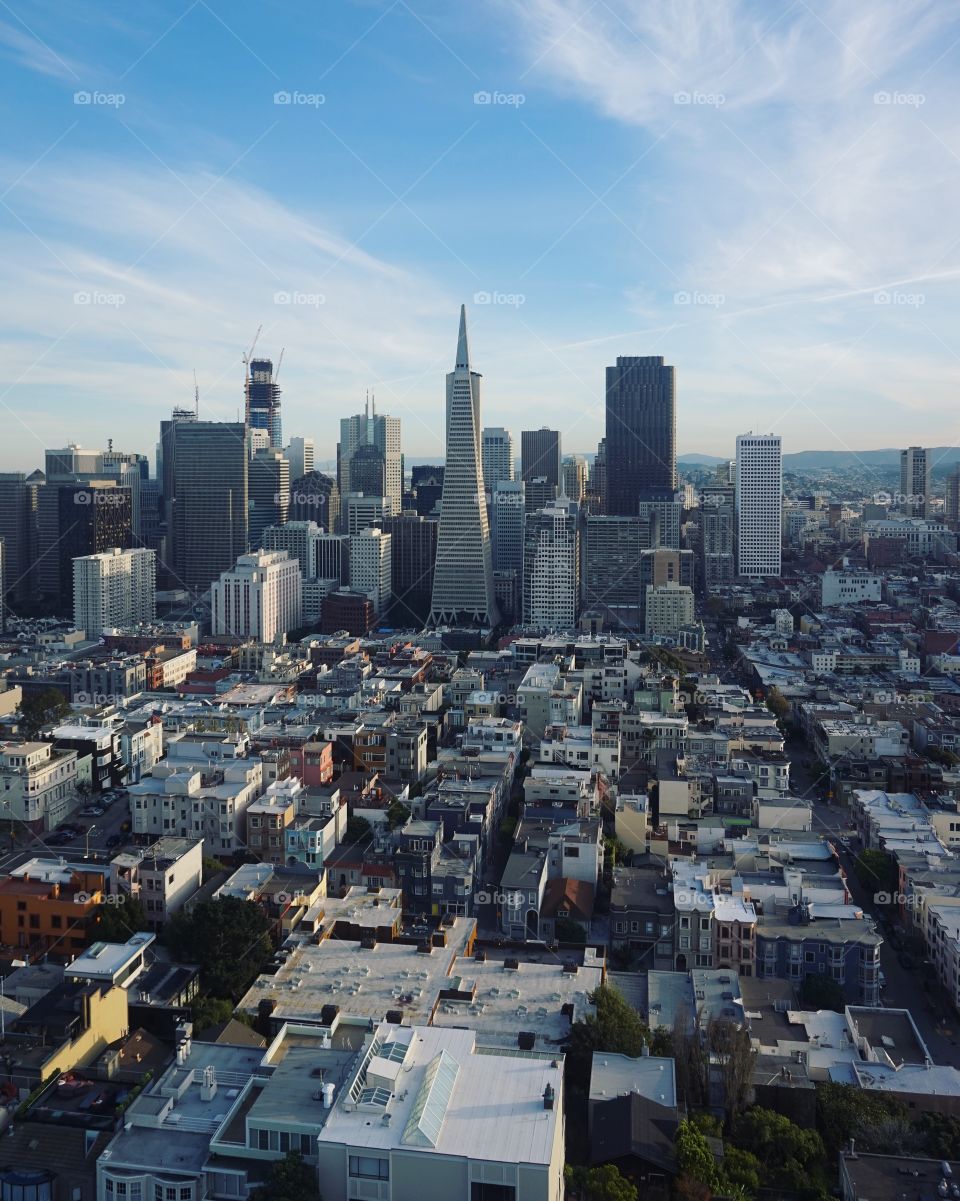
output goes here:
[[195, 369], [234, 417], [260, 324], [287, 435], [371, 388], [441, 454], [461, 301], [484, 423], [565, 450], [616, 354], [681, 450], [956, 441], [955, 5], [119, 7], [0, 7], [0, 467], [153, 455]]

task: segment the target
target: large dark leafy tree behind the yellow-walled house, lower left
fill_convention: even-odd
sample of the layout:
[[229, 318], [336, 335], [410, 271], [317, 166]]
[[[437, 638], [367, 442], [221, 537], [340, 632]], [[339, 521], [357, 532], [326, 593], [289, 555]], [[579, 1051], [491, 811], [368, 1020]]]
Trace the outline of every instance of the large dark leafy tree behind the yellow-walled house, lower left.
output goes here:
[[174, 958], [199, 963], [203, 991], [214, 997], [240, 997], [273, 955], [270, 919], [254, 902], [239, 897], [201, 901], [180, 910], [163, 931]]

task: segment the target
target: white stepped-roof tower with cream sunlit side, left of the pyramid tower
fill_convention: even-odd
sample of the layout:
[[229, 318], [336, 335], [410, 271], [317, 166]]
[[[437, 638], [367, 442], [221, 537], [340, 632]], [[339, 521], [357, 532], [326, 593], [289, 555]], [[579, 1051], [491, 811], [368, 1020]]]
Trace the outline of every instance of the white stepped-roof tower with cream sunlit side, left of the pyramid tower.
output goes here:
[[285, 550], [240, 555], [210, 585], [214, 634], [272, 643], [302, 625], [300, 564]]

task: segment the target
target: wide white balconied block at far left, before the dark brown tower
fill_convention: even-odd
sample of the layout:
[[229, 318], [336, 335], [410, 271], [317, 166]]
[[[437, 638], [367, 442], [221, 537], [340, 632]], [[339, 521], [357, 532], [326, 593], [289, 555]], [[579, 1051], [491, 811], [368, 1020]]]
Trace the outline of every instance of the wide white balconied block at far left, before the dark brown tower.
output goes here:
[[156, 616], [156, 555], [114, 546], [73, 560], [73, 625], [88, 638]]

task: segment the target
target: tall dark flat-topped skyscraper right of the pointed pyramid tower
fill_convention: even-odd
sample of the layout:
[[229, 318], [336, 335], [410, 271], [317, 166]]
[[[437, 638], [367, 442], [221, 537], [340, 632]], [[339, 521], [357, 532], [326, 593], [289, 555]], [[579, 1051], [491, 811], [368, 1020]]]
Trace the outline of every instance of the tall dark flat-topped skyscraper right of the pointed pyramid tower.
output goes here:
[[676, 392], [663, 357], [619, 357], [607, 368], [606, 512], [634, 516], [642, 500], [676, 489]]

